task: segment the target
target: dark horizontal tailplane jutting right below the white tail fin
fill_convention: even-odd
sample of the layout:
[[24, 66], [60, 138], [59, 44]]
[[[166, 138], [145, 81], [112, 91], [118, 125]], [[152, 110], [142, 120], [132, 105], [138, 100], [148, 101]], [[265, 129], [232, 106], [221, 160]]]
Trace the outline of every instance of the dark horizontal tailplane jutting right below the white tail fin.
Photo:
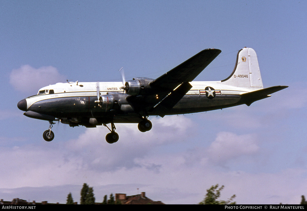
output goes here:
[[288, 86], [272, 86], [269, 88], [249, 92], [241, 95], [240, 104], [250, 106], [253, 102], [270, 97], [270, 94], [286, 89]]

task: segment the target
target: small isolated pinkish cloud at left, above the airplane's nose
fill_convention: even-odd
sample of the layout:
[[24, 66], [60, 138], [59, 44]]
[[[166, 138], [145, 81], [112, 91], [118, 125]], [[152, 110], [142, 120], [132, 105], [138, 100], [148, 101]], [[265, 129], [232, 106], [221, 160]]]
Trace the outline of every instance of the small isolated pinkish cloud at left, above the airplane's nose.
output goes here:
[[10, 74], [10, 83], [16, 90], [31, 94], [36, 94], [44, 86], [64, 81], [65, 76], [52, 66], [36, 69], [30, 65], [23, 65], [12, 70]]

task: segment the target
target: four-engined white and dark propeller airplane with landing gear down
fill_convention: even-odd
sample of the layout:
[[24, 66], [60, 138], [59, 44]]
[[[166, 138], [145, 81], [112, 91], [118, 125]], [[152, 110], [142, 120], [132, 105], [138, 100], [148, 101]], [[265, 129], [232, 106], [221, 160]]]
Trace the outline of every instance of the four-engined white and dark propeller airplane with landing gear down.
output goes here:
[[[93, 128], [104, 125], [110, 130], [109, 144], [119, 140], [115, 123], [138, 123], [141, 132], [149, 131], [149, 116], [205, 112], [268, 98], [288, 86], [263, 88], [257, 55], [252, 48], [239, 50], [231, 75], [221, 81], [193, 81], [219, 54], [205, 49], [157, 79], [134, 78], [122, 82], [66, 82], [41, 88], [36, 95], [18, 102], [24, 115], [49, 121], [43, 133], [52, 141], [54, 121], [71, 127]], [[107, 126], [111, 124], [111, 129]]]

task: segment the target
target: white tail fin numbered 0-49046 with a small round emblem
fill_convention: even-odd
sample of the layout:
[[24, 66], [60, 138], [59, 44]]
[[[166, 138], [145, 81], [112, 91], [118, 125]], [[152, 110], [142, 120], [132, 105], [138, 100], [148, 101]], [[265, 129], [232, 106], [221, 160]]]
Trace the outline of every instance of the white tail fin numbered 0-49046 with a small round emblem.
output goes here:
[[227, 79], [221, 82], [237, 87], [263, 88], [258, 59], [254, 49], [243, 48], [239, 50], [235, 69]]

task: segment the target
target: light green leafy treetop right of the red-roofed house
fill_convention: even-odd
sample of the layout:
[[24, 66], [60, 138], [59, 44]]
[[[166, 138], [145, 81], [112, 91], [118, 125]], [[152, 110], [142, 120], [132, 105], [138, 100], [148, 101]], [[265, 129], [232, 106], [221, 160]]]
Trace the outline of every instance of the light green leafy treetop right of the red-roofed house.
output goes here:
[[203, 201], [199, 202], [199, 204], [236, 204], [234, 200], [235, 195], [233, 195], [231, 198], [228, 199], [228, 201], [218, 201], [217, 199], [221, 195], [221, 190], [223, 190], [224, 186], [222, 185], [219, 189], [219, 184], [216, 184], [215, 186], [211, 186], [211, 188], [207, 189], [206, 197]]

